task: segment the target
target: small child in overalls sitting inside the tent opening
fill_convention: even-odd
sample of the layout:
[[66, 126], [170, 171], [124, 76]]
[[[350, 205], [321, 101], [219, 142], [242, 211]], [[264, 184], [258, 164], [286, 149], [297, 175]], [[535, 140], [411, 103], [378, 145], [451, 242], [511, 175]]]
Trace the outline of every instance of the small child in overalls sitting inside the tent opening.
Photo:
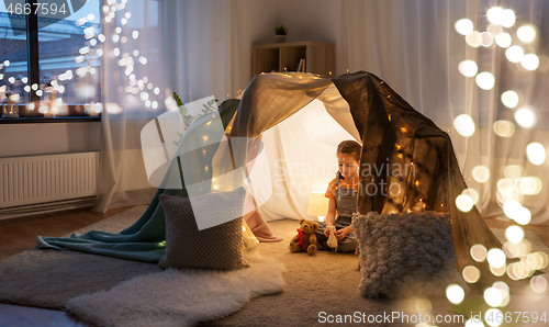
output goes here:
[[[355, 251], [357, 240], [355, 229], [350, 227], [352, 214], [357, 212], [357, 195], [359, 191], [359, 160], [362, 146], [355, 140], [344, 140], [337, 146], [336, 178], [333, 179], [325, 196], [329, 199], [328, 213], [324, 223], [318, 223], [315, 232], [318, 249], [335, 250], [327, 245], [329, 226], [335, 226], [334, 234], [338, 240], [337, 251]], [[337, 217], [336, 217], [337, 213]]]

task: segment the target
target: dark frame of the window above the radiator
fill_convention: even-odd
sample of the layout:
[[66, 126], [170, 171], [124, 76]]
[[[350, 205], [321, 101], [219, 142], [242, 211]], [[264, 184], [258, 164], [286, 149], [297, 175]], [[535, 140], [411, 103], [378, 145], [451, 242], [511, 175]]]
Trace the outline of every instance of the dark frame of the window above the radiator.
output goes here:
[[[38, 3], [38, 0], [25, 0], [25, 3]], [[101, 14], [101, 10], [100, 10]], [[26, 21], [26, 65], [29, 71], [29, 84], [40, 84], [40, 48], [38, 48], [38, 15], [35, 11], [31, 10], [30, 14], [25, 15]], [[100, 58], [101, 66], [103, 65], [103, 57]], [[101, 84], [100, 84], [101, 88]], [[41, 101], [41, 97], [35, 92], [30, 92], [31, 103]], [[18, 104], [20, 112], [26, 104]], [[76, 106], [68, 104], [69, 108]], [[18, 117], [18, 119], [2, 119], [0, 115], [0, 124], [29, 124], [29, 123], [69, 123], [69, 122], [100, 122], [102, 113], [97, 116], [56, 116], [56, 117]]]

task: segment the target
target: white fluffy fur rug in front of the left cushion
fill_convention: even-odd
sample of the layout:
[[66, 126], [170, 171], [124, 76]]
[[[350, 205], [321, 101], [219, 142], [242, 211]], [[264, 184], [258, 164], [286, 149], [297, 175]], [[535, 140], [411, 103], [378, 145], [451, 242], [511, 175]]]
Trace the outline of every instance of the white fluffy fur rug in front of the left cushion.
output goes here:
[[67, 302], [67, 309], [101, 326], [192, 326], [239, 311], [250, 298], [279, 293], [284, 266], [247, 256], [250, 268], [228, 272], [173, 270], [149, 273], [109, 291]]

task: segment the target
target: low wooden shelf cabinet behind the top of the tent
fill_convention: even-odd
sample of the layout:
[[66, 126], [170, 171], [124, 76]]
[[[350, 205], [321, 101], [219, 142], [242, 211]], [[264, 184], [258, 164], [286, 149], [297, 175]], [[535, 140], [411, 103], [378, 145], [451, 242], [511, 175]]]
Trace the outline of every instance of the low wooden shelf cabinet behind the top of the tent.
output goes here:
[[255, 45], [251, 77], [261, 72], [298, 71], [301, 59], [305, 59], [306, 72], [335, 76], [335, 45], [301, 41]]

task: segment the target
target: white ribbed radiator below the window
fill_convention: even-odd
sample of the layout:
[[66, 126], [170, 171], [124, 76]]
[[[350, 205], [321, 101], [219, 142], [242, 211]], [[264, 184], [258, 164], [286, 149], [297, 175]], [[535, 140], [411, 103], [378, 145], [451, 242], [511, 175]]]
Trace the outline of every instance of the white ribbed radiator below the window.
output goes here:
[[0, 158], [0, 208], [97, 194], [99, 153]]

